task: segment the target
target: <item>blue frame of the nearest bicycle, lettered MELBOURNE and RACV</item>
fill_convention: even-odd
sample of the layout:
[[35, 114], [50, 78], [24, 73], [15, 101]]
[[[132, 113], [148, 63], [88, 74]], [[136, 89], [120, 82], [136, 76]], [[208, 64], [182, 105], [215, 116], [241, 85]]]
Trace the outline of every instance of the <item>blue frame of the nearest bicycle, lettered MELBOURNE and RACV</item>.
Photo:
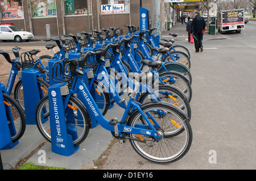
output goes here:
[[[157, 121], [155, 121], [154, 117], [152, 117], [149, 113], [144, 113], [141, 110], [141, 104], [135, 102], [133, 96], [131, 96], [129, 102], [127, 103], [121, 121], [118, 121], [115, 124], [110, 124], [110, 122], [112, 123], [112, 120], [107, 120], [101, 114], [100, 110], [98, 110], [97, 104], [94, 102], [92, 95], [90, 95], [90, 92], [87, 89], [84, 82], [78, 76], [73, 76], [72, 78], [72, 85], [70, 86], [69, 94], [65, 96], [63, 102], [64, 110], [67, 110], [68, 108], [68, 102], [71, 95], [77, 94], [77, 97], [81, 100], [86, 110], [89, 112], [90, 117], [93, 118], [91, 120], [95, 120], [103, 128], [107, 129], [110, 132], [114, 132], [115, 135], [122, 137], [122, 133], [143, 134], [148, 137], [154, 137], [155, 140], [160, 140], [161, 137], [159, 136], [158, 131], [156, 131], [155, 129], [159, 128], [159, 124], [157, 123]], [[138, 86], [139, 85], [136, 86], [135, 91], [138, 89]], [[125, 124], [129, 111], [134, 109], [137, 109], [141, 113], [142, 117], [144, 118], [147, 124], [137, 124], [136, 127], [129, 127]], [[152, 121], [152, 123], [148, 119], [148, 117]], [[148, 129], [148, 127], [150, 127], [151, 129]]]

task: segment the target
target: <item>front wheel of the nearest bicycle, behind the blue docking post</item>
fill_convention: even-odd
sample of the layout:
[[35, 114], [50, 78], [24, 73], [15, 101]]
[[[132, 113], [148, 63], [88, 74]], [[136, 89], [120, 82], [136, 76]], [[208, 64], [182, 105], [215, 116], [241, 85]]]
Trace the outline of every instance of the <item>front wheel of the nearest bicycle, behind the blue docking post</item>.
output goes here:
[[[65, 110], [65, 120], [60, 121], [65, 121], [68, 132], [75, 131], [75, 133], [72, 134], [72, 138], [73, 145], [77, 146], [85, 140], [89, 133], [89, 115], [85, 107], [82, 106], [81, 101], [75, 96], [71, 96], [68, 105]], [[50, 121], [49, 99], [48, 96], [46, 96], [40, 100], [36, 108], [36, 125], [42, 136], [49, 142], [51, 142]]]

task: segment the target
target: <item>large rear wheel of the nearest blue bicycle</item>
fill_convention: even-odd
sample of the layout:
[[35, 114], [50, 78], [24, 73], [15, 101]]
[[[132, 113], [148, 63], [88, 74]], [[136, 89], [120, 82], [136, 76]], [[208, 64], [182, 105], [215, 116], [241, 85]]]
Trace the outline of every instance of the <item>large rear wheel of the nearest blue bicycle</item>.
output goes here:
[[[164, 114], [157, 113], [158, 110], [163, 111]], [[162, 138], [160, 141], [155, 141], [149, 136], [130, 134], [133, 149], [143, 158], [154, 162], [175, 162], [182, 158], [192, 144], [192, 129], [187, 116], [179, 108], [168, 103], [144, 104], [142, 111], [158, 121], [160, 127], [156, 129], [162, 134]], [[131, 127], [139, 127], [145, 123], [139, 111], [135, 111], [128, 122]], [[183, 127], [184, 131], [177, 136], [172, 136], [170, 133], [175, 129], [180, 129], [179, 127]]]

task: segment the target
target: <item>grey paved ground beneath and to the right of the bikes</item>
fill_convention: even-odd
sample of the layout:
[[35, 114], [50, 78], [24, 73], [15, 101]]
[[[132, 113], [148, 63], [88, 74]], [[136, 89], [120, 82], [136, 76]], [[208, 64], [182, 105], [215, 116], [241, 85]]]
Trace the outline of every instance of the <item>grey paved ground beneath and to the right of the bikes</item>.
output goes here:
[[[191, 52], [193, 96], [191, 101], [191, 126], [193, 142], [191, 149], [179, 161], [166, 165], [148, 162], [131, 148], [129, 141], [114, 144], [105, 170], [187, 170], [187, 169], [256, 169], [255, 154], [255, 93], [256, 93], [256, 22], [250, 21], [241, 33], [216, 32], [204, 35], [204, 51], [195, 53], [193, 44], [187, 43], [185, 26], [173, 27], [179, 33], [176, 44], [185, 45]], [[168, 32], [163, 36], [168, 35]], [[44, 41], [31, 41], [30, 45]], [[7, 45], [9, 43], [0, 43]], [[15, 44], [15, 43], [11, 43]], [[19, 43], [22, 46], [26, 42]], [[115, 106], [106, 118], [121, 117], [123, 110]], [[40, 137], [36, 128], [29, 126], [27, 139]], [[35, 132], [35, 133], [34, 133]], [[26, 138], [23, 138], [26, 140]], [[38, 140], [40, 140], [38, 138]], [[100, 126], [89, 132], [77, 153], [63, 157], [51, 152], [51, 144], [43, 146], [46, 163], [39, 163], [40, 154], [35, 153], [28, 161], [36, 165], [60, 166], [69, 169], [86, 169], [104, 152], [112, 136]], [[27, 141], [20, 141], [19, 146]], [[29, 144], [27, 144], [29, 145]], [[23, 148], [12, 149], [20, 155]], [[23, 150], [24, 151], [24, 150]], [[1, 151], [6, 162], [7, 151]]]

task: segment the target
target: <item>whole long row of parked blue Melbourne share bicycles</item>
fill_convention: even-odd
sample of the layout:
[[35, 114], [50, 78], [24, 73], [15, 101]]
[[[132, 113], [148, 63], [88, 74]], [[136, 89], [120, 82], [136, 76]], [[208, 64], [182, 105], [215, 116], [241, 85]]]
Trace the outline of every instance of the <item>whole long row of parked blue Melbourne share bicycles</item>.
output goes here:
[[[35, 122], [52, 146], [54, 142], [57, 149], [63, 149], [63, 140], [68, 138], [77, 147], [89, 129], [100, 124], [121, 144], [129, 140], [143, 158], [177, 161], [192, 143], [189, 51], [172, 45], [172, 39], [159, 41], [159, 33], [152, 33], [155, 28], [136, 32], [134, 26], [126, 27], [129, 34], [125, 36], [121, 28], [107, 28], [51, 38], [47, 41], [56, 44], [46, 48], [52, 49], [54, 56], [38, 57], [40, 50], [19, 56], [20, 48], [15, 47], [16, 58], [11, 60], [7, 52], [0, 50], [12, 64], [5, 94], [11, 94], [18, 75], [14, 99], [26, 113], [26, 89], [20, 71], [35, 69], [39, 72], [36, 82], [40, 90]], [[55, 47], [59, 48], [57, 52]], [[114, 103], [124, 109], [121, 120], [104, 117]], [[24, 132], [24, 127], [16, 129]]]

